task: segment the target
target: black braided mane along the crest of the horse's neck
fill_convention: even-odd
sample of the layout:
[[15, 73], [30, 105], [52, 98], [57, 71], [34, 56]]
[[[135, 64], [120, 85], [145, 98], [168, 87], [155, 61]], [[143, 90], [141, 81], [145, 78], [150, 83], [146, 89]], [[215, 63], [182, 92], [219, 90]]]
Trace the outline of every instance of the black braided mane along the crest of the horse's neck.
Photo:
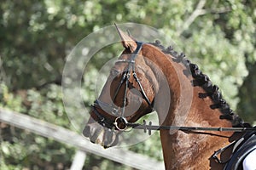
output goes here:
[[[154, 45], [157, 48], [160, 48], [161, 51], [165, 54], [171, 54], [173, 57], [173, 61], [177, 63], [182, 63], [189, 71], [191, 71], [192, 77], [194, 78], [192, 84], [193, 86], [200, 86], [205, 90], [206, 93], [199, 94], [199, 98], [207, 98], [210, 97], [213, 101], [213, 105], [210, 105], [212, 110], [219, 109], [222, 115], [219, 116], [220, 119], [226, 119], [232, 122], [233, 127], [247, 127], [250, 126], [247, 123], [244, 123], [240, 116], [238, 116], [233, 110], [230, 109], [230, 105], [227, 104], [226, 100], [223, 99], [221, 92], [218, 90], [217, 85], [213, 85], [210, 78], [207, 75], [203, 74], [199, 67], [190, 62], [189, 59], [185, 58], [185, 54], [178, 54], [172, 46], [165, 48], [161, 45], [159, 40], [155, 42], [150, 42], [150, 44]], [[187, 71], [187, 72], [189, 72]]]

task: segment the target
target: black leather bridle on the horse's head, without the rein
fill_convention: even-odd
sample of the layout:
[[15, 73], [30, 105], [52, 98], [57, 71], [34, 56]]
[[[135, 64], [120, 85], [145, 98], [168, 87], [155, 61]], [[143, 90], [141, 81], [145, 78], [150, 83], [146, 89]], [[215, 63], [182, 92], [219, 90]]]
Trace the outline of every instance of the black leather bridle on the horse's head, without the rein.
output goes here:
[[[115, 101], [117, 95], [119, 94], [119, 90], [121, 86], [125, 83], [125, 94], [123, 99], [123, 107], [117, 107], [113, 104], [108, 104], [105, 102], [102, 102], [100, 99], [96, 99], [94, 102], [94, 105], [91, 105], [93, 112], [97, 116], [96, 122], [100, 123], [103, 127], [108, 127], [110, 129], [117, 129], [119, 131], [125, 131], [125, 129], [128, 127], [128, 121], [125, 117], [125, 105], [126, 105], [126, 97], [127, 97], [127, 89], [129, 85], [129, 79], [132, 76], [136, 80], [137, 84], [139, 85], [139, 88], [141, 89], [141, 93], [143, 95], [143, 99], [146, 100], [148, 105], [153, 110], [153, 105], [149, 101], [147, 94], [145, 94], [145, 91], [143, 89], [142, 83], [137, 78], [137, 74], [135, 71], [135, 59], [137, 58], [137, 54], [141, 51], [143, 48], [143, 42], [137, 42], [137, 48], [136, 50], [131, 54], [131, 59], [118, 59], [116, 62], [125, 62], [128, 63], [127, 71], [124, 72], [123, 77], [121, 78], [118, 88], [116, 89], [114, 95], [113, 95], [113, 102]], [[107, 116], [103, 116], [97, 109], [100, 109], [104, 112], [111, 113], [112, 115], [115, 115], [116, 118], [114, 120], [109, 119]], [[120, 114], [119, 114], [120, 113]]]

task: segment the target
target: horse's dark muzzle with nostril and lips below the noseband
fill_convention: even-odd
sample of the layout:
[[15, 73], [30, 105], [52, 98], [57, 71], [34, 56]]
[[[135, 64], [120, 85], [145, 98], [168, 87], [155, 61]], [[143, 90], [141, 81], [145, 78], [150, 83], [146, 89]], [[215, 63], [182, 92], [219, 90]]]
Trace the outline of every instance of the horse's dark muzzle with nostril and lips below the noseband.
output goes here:
[[84, 137], [89, 138], [93, 144], [100, 144], [105, 149], [119, 143], [119, 133], [99, 124], [91, 123], [84, 127]]

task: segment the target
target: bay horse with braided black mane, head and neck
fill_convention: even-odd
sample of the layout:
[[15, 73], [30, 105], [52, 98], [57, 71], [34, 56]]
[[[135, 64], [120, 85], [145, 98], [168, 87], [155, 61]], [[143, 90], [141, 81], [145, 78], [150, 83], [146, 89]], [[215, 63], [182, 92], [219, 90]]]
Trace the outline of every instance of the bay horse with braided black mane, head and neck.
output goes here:
[[[159, 41], [137, 42], [119, 30], [125, 48], [113, 65], [94, 105], [84, 136], [104, 148], [119, 142], [127, 124], [156, 111], [161, 126], [246, 127], [230, 109], [218, 86], [185, 55]], [[167, 82], [167, 89], [164, 82]], [[137, 93], [135, 90], [137, 89]], [[135, 105], [136, 110], [127, 105]], [[185, 116], [184, 119], [178, 117]], [[182, 121], [180, 121], [182, 120]], [[241, 138], [234, 132], [160, 130], [165, 167], [172, 169], [223, 169], [213, 153]], [[221, 159], [228, 160], [230, 151]]]

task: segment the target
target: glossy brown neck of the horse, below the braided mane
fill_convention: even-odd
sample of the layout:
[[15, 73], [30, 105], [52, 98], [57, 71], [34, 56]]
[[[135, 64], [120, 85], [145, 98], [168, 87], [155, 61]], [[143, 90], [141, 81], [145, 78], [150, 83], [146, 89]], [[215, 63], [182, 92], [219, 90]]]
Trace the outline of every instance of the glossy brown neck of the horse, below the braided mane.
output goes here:
[[[184, 74], [187, 68], [181, 63], [160, 52], [149, 51], [151, 59], [159, 65], [170, 87], [171, 102], [166, 104], [165, 88], [160, 88], [156, 111], [161, 125], [194, 127], [232, 127], [232, 123], [219, 119], [222, 115], [218, 109], [212, 110], [212, 99], [199, 98], [205, 94], [201, 87], [191, 84], [193, 77]], [[156, 53], [156, 54], [155, 54]], [[160, 56], [162, 55], [162, 56]], [[157, 56], [157, 59], [154, 57]], [[154, 68], [152, 68], [154, 69]], [[158, 80], [161, 82], [161, 80]], [[162, 90], [162, 91], [161, 91]], [[169, 108], [166, 107], [169, 105]], [[168, 110], [166, 110], [168, 108]], [[209, 169], [214, 165], [210, 157], [215, 150], [229, 144], [232, 133], [184, 133], [182, 131], [161, 130], [160, 138], [166, 169]], [[211, 164], [211, 165], [210, 165]]]

